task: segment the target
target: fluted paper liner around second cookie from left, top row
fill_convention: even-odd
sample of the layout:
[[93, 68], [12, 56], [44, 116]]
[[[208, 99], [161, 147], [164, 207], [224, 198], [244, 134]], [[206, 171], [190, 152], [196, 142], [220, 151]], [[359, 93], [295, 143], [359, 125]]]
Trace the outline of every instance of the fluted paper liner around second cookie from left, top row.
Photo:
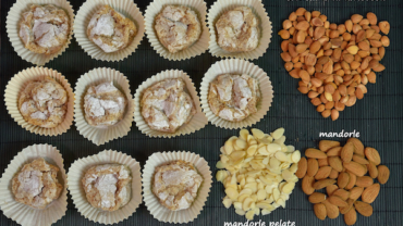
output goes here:
[[[115, 52], [105, 52], [100, 47], [94, 43], [87, 36], [87, 27], [93, 15], [100, 7], [109, 4], [117, 12], [132, 20], [137, 27], [137, 34], [134, 39], [124, 49]], [[144, 37], [144, 17], [133, 0], [87, 0], [77, 11], [74, 23], [74, 37], [78, 45], [89, 56], [101, 61], [122, 61], [136, 51]]]

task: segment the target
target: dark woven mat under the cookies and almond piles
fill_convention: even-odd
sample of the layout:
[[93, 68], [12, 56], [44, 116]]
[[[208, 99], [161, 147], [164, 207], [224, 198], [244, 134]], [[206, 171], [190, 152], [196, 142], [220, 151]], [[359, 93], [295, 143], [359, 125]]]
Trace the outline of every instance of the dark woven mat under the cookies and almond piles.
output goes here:
[[[83, 138], [75, 126], [58, 137], [44, 137], [30, 134], [21, 128], [8, 114], [3, 93], [7, 83], [17, 72], [33, 66], [22, 60], [11, 47], [5, 32], [5, 16], [15, 0], [1, 1], [1, 68], [0, 68], [0, 172], [3, 173], [10, 161], [25, 147], [34, 143], [49, 143], [56, 146], [64, 158], [65, 168], [78, 158], [84, 158], [102, 151], [105, 149], [119, 150], [127, 153], [141, 162], [144, 166], [147, 158], [158, 151], [187, 150], [205, 158], [213, 175], [217, 172], [216, 162], [219, 160], [219, 148], [224, 140], [239, 130], [217, 128], [209, 124], [204, 129], [174, 139], [148, 138], [142, 135], [136, 126], [127, 136], [97, 147]], [[71, 0], [76, 12], [83, 1]], [[148, 1], [135, 0], [142, 12], [145, 12]], [[207, 0], [208, 8], [213, 1]], [[255, 127], [264, 131], [272, 131], [278, 127], [285, 128], [286, 143], [293, 145], [296, 149], [305, 150], [308, 147], [317, 147], [320, 131], [359, 131], [361, 139], [365, 146], [379, 150], [382, 163], [391, 171], [391, 177], [387, 185], [381, 186], [378, 199], [373, 203], [374, 215], [364, 217], [358, 215], [356, 225], [402, 225], [403, 223], [403, 179], [402, 179], [402, 145], [403, 145], [403, 1], [402, 0], [314, 0], [314, 1], [286, 1], [286, 0], [264, 0], [264, 4], [273, 25], [273, 37], [266, 54], [253, 63], [260, 66], [269, 75], [274, 99], [270, 111], [265, 118]], [[310, 104], [306, 96], [301, 95], [297, 88], [297, 80], [290, 77], [283, 67], [280, 58], [281, 38], [277, 33], [281, 29], [282, 22], [288, 18], [292, 11], [298, 7], [307, 10], [318, 10], [328, 16], [333, 23], [344, 23], [354, 13], [365, 15], [367, 12], [375, 12], [380, 21], [389, 21], [391, 32], [389, 34], [390, 47], [387, 48], [382, 61], [386, 71], [377, 75], [377, 84], [367, 86], [368, 93], [363, 100], [357, 101], [353, 108], [347, 108], [340, 114], [337, 122], [322, 118]], [[130, 79], [132, 93], [148, 77], [158, 72], [178, 68], [191, 75], [199, 91], [199, 84], [204, 74], [211, 64], [220, 59], [211, 56], [208, 52], [197, 58], [181, 62], [171, 62], [159, 56], [150, 47], [145, 37], [129, 59], [119, 63], [108, 63], [91, 60], [73, 38], [69, 49], [59, 58], [46, 66], [62, 73], [72, 87], [77, 78], [84, 73], [96, 67], [111, 67], [122, 72]], [[335, 138], [345, 142], [346, 138]], [[212, 184], [211, 192], [202, 214], [188, 225], [217, 225], [222, 226], [224, 222], [246, 222], [243, 216], [237, 216], [234, 210], [227, 210], [221, 199], [224, 197], [223, 186], [216, 180]], [[316, 218], [313, 205], [308, 202], [307, 196], [301, 189], [301, 181], [297, 184], [285, 209], [278, 209], [270, 215], [255, 217], [255, 221], [279, 222], [291, 221], [295, 225], [344, 225], [343, 217], [321, 222]], [[0, 214], [0, 225], [16, 225]], [[66, 215], [54, 225], [78, 226], [97, 225], [80, 215], [69, 196], [69, 210]], [[141, 204], [136, 213], [127, 221], [119, 225], [164, 225], [155, 219], [146, 206]]]

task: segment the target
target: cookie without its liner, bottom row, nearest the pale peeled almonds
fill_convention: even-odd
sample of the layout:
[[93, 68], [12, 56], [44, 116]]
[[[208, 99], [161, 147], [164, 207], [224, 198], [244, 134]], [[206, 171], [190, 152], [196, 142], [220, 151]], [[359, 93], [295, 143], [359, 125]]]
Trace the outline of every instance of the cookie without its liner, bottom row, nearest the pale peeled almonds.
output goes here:
[[192, 163], [178, 160], [156, 168], [152, 192], [171, 211], [188, 209], [197, 196], [203, 177]]

